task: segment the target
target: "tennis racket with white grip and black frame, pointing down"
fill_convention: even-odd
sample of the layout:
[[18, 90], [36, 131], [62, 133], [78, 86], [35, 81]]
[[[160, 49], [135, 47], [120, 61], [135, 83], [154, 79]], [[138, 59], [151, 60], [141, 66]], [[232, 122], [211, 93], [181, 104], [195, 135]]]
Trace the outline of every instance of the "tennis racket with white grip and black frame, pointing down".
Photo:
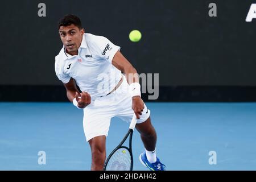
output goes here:
[[[105, 171], [132, 171], [133, 170], [133, 152], [131, 151], [131, 139], [133, 138], [133, 130], [136, 125], [137, 118], [134, 114], [131, 119], [130, 127], [123, 138], [122, 142], [109, 154], [106, 159], [104, 170]], [[126, 139], [130, 135], [129, 147], [123, 146]]]

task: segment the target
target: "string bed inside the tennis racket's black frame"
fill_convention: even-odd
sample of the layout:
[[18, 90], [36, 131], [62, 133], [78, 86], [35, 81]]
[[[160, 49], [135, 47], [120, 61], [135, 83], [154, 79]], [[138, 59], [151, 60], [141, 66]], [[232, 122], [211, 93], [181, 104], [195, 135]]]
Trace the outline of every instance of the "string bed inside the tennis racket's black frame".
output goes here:
[[126, 148], [119, 148], [110, 157], [106, 166], [107, 171], [129, 171], [131, 167], [131, 154]]

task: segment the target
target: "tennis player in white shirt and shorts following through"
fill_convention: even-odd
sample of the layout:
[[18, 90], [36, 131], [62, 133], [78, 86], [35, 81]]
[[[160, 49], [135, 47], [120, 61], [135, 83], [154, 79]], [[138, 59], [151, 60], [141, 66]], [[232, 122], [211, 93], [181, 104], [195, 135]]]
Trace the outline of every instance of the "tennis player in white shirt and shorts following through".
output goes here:
[[156, 157], [156, 132], [150, 110], [141, 99], [138, 73], [120, 47], [104, 36], [85, 33], [81, 20], [71, 14], [60, 19], [59, 35], [63, 48], [55, 57], [55, 72], [67, 90], [68, 100], [84, 111], [84, 133], [92, 151], [91, 169], [104, 168], [111, 118], [130, 122], [135, 113], [135, 127], [145, 147], [139, 160], [150, 170], [163, 171], [165, 166]]

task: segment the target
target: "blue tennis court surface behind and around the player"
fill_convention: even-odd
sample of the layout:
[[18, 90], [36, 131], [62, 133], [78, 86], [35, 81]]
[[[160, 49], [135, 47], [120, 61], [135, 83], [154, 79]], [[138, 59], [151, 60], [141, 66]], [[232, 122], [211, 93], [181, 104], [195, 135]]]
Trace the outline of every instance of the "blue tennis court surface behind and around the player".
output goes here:
[[[256, 103], [147, 102], [167, 170], [255, 170]], [[82, 111], [68, 102], [0, 102], [0, 170], [90, 170]], [[129, 125], [113, 118], [107, 155]], [[38, 164], [38, 152], [46, 164]], [[143, 144], [133, 137], [134, 170]], [[217, 164], [209, 164], [215, 151]]]

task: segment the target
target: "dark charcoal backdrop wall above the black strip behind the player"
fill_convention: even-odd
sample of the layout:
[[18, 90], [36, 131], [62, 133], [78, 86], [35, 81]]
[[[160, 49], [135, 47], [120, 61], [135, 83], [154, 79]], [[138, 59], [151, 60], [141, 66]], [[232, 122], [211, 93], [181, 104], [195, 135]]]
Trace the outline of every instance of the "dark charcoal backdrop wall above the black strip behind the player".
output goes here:
[[[38, 16], [40, 2], [1, 3], [1, 98], [10, 86], [26, 93], [42, 88], [49, 92], [49, 86], [55, 86], [55, 92], [60, 89], [54, 62], [62, 46], [57, 21], [65, 14], [80, 16], [86, 32], [121, 46], [139, 73], [159, 73], [162, 94], [183, 86], [203, 86], [209, 90], [207, 95], [220, 86], [256, 86], [255, 20], [245, 22], [253, 1], [214, 1], [217, 17], [213, 18], [208, 16], [213, 1], [203, 0], [46, 0], [46, 17], [42, 18]], [[138, 43], [128, 37], [134, 29], [142, 32]]]

